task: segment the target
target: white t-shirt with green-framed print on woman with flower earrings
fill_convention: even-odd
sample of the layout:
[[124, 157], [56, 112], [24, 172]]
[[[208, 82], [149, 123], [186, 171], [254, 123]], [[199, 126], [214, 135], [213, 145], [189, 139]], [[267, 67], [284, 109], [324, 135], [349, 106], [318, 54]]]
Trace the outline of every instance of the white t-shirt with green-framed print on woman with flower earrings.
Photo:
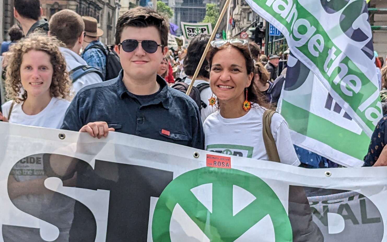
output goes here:
[[[242, 105], [241, 105], [242, 108]], [[266, 109], [253, 104], [240, 118], [223, 118], [219, 111], [204, 121], [205, 150], [227, 155], [268, 160], [262, 136], [262, 116]], [[300, 165], [289, 134], [288, 123], [278, 113], [272, 116], [271, 132], [281, 163]]]

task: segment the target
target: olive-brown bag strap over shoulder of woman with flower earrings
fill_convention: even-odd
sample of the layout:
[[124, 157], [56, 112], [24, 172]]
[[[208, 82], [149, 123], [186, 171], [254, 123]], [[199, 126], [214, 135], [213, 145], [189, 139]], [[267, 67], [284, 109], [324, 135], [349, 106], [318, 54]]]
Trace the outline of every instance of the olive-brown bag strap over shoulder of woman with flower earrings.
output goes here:
[[266, 109], [264, 115], [262, 116], [262, 136], [264, 138], [264, 145], [266, 149], [267, 156], [270, 161], [280, 162], [278, 150], [276, 146], [276, 141], [271, 133], [271, 118], [276, 111], [271, 109]]

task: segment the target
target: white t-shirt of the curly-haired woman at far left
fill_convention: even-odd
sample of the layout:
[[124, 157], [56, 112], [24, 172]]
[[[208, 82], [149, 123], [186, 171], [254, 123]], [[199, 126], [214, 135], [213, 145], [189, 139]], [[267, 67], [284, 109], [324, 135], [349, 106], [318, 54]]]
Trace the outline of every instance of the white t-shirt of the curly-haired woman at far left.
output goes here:
[[[7, 118], [11, 104], [12, 101], [8, 101], [2, 106], [3, 114]], [[23, 102], [14, 104], [11, 119], [9, 120], [10, 123], [58, 129], [62, 126], [65, 112], [70, 102], [65, 99], [53, 97], [47, 107], [35, 115], [25, 114], [22, 110], [22, 104]]]

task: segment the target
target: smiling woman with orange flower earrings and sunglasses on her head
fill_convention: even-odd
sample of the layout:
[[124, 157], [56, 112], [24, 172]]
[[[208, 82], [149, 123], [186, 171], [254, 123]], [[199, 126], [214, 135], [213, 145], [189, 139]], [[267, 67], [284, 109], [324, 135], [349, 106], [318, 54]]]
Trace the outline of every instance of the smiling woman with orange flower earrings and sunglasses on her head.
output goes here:
[[253, 59], [242, 39], [216, 40], [209, 51], [210, 87], [218, 107], [204, 122], [205, 149], [300, 165], [288, 124], [254, 83]]

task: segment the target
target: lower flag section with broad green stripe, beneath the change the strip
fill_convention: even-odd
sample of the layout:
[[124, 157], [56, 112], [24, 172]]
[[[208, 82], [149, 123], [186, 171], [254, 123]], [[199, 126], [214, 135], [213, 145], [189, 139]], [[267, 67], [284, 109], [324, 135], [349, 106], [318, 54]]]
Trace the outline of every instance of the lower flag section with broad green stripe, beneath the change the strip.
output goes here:
[[361, 167], [370, 138], [292, 53], [277, 111], [293, 144], [346, 167]]

